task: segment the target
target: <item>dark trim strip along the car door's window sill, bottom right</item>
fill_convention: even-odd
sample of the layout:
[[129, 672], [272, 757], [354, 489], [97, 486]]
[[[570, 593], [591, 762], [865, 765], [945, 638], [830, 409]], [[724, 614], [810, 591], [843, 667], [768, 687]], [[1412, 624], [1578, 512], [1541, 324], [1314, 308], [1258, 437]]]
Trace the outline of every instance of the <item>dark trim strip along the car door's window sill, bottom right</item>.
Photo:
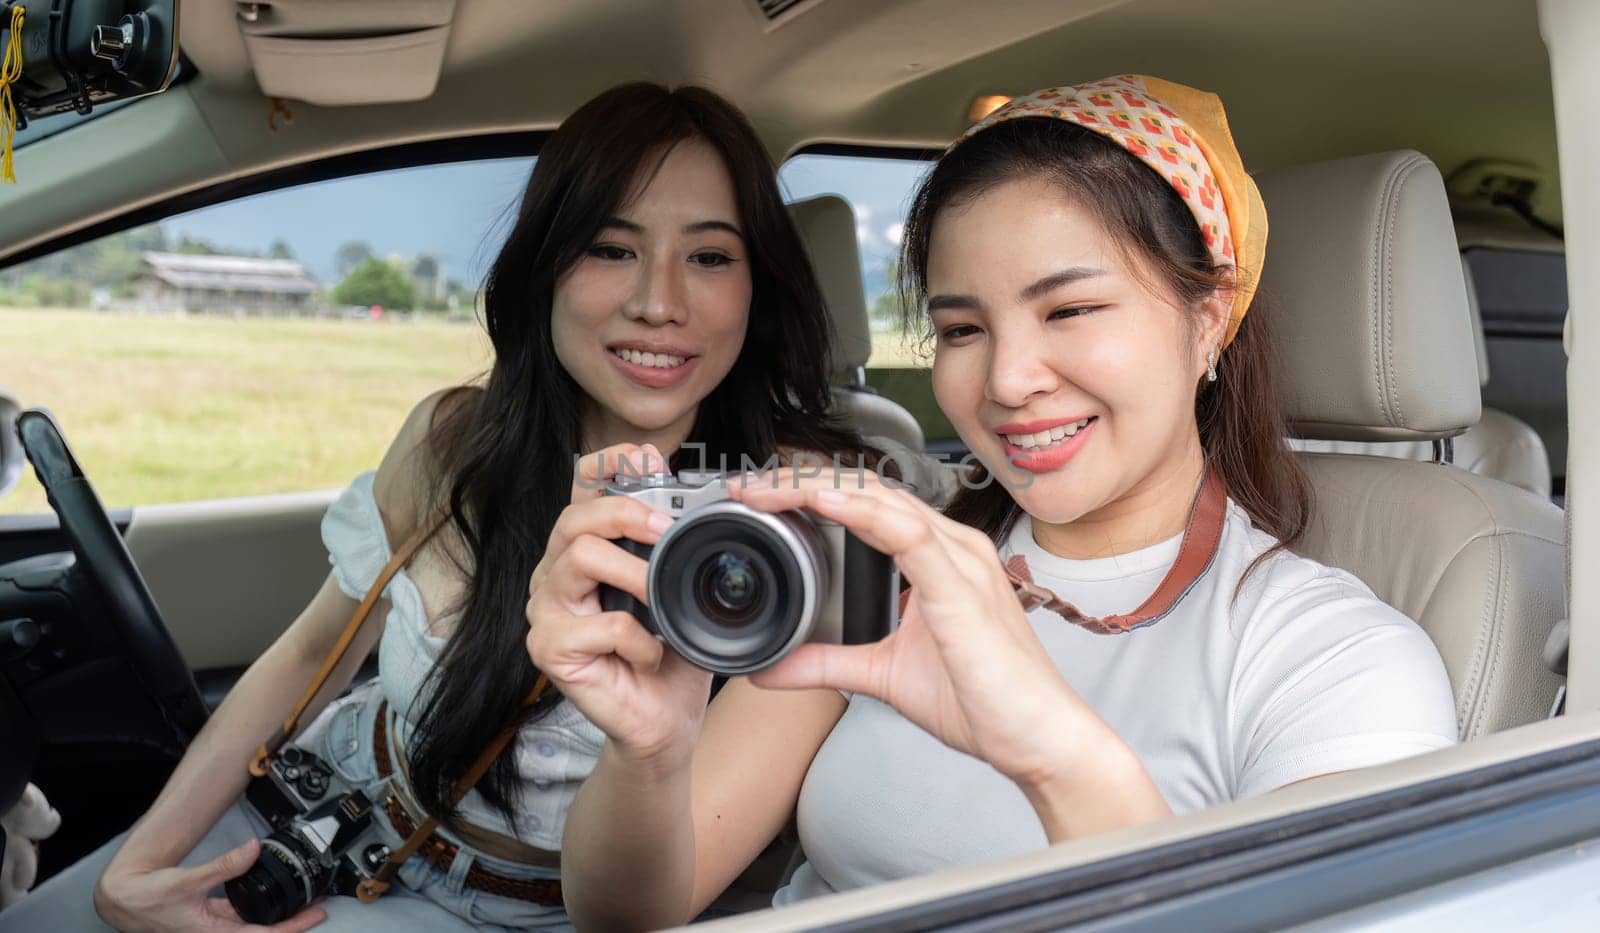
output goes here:
[[829, 928], [1278, 928], [1595, 835], [1589, 741]]

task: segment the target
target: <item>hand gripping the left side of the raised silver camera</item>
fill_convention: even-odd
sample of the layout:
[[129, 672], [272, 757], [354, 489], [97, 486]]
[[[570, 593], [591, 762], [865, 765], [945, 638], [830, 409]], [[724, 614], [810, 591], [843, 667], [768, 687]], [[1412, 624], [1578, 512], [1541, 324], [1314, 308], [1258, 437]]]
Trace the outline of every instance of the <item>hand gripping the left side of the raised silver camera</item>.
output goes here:
[[[624, 461], [627, 462], [622, 467]], [[710, 696], [710, 674], [662, 645], [627, 611], [602, 611], [600, 586], [646, 602], [646, 563], [614, 543], [654, 544], [672, 519], [629, 496], [606, 496], [622, 469], [666, 469], [654, 446], [586, 454], [528, 583], [528, 656], [614, 749], [640, 762], [688, 760]]]

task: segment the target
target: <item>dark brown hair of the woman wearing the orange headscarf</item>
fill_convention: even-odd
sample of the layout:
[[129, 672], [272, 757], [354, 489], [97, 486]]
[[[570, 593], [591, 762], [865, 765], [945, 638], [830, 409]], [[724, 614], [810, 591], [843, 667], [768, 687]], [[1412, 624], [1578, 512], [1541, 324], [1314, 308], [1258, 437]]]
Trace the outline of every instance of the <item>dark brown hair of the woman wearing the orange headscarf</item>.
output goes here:
[[[1189, 206], [1157, 173], [1093, 130], [1026, 117], [963, 141], [917, 190], [901, 253], [901, 307], [907, 326], [920, 326], [931, 338], [931, 323], [920, 309], [928, 294], [928, 243], [939, 211], [1019, 178], [1046, 179], [1086, 205], [1117, 245], [1154, 269], [1158, 285], [1184, 307], [1230, 282], [1234, 270], [1216, 266]], [[1258, 291], [1218, 363], [1221, 378], [1197, 387], [1195, 421], [1206, 462], [1222, 477], [1229, 496], [1286, 547], [1304, 535], [1310, 520], [1310, 487], [1283, 442], [1266, 304]], [[1003, 483], [965, 483], [947, 514], [998, 543], [1016, 519], [1016, 503]]]

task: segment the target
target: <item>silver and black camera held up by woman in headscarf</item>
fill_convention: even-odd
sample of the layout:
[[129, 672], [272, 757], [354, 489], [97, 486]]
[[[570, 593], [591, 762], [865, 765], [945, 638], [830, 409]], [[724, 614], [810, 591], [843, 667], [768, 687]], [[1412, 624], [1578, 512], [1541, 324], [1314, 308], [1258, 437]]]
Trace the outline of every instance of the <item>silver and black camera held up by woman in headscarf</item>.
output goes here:
[[650, 605], [600, 587], [690, 663], [717, 674], [776, 664], [805, 642], [864, 645], [894, 629], [899, 571], [848, 528], [811, 512], [762, 512], [728, 496], [741, 474], [682, 471], [618, 477], [675, 520], [654, 544], [616, 544], [650, 562]]

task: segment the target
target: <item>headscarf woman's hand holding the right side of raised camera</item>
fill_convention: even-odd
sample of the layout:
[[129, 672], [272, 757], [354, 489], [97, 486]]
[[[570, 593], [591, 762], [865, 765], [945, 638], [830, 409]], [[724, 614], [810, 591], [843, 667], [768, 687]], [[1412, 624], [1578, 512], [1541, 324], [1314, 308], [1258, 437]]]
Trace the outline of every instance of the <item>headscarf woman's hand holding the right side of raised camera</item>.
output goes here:
[[989, 538], [867, 477], [779, 471], [731, 482], [768, 512], [810, 509], [890, 554], [910, 581], [899, 627], [872, 645], [802, 645], [758, 687], [832, 687], [888, 703], [1024, 791], [1072, 781], [1110, 727], [1067, 685], [1034, 634]]

